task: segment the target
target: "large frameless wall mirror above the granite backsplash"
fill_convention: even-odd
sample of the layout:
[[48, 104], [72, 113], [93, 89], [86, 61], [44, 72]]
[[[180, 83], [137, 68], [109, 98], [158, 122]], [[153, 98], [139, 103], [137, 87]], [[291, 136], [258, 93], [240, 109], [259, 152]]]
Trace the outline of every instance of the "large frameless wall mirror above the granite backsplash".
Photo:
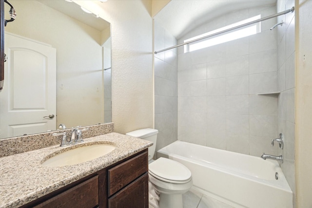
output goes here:
[[[37, 78], [31, 74], [32, 68], [30, 71], [23, 69], [25, 71], [22, 71], [20, 76], [7, 72], [0, 93], [0, 138], [55, 131], [60, 129], [60, 124], [64, 124], [66, 128], [73, 128], [111, 122], [110, 23], [95, 14], [82, 11], [78, 4], [67, 0], [9, 0], [9, 2], [16, 9], [17, 17], [5, 27], [5, 38], [8, 35], [26, 38], [56, 51], [56, 80], [48, 81], [56, 88], [56, 97], [54, 96], [56, 110], [46, 110], [45, 106], [47, 103], [50, 105], [50, 102], [46, 101], [45, 96], [49, 93], [45, 87], [34, 86]], [[9, 9], [7, 6], [4, 8], [5, 19], [8, 19]], [[6, 39], [4, 46], [6, 47]], [[8, 67], [10, 70], [12, 65], [18, 65], [14, 62], [17, 60], [15, 57], [11, 56], [10, 59], [11, 51], [6, 52], [9, 63], [5, 63], [7, 65], [5, 68]], [[29, 59], [26, 62], [37, 63]], [[20, 65], [24, 66], [24, 63]], [[45, 72], [42, 74], [44, 78], [48, 77]], [[18, 85], [21, 86], [17, 87]], [[3, 92], [5, 90], [9, 92], [8, 95]], [[18, 101], [20, 104], [15, 103]], [[25, 104], [30, 101], [35, 107]], [[43, 104], [39, 106], [39, 103]], [[9, 113], [14, 111], [15, 114], [7, 119], [3, 111]], [[22, 114], [34, 111], [43, 112], [38, 116], [38, 121], [6, 123], [10, 119], [15, 121], [25, 117], [29, 119], [36, 117], [33, 114]], [[49, 115], [55, 116], [48, 117]], [[43, 118], [44, 116], [47, 117]], [[53, 127], [47, 127], [46, 123], [50, 121], [54, 121]]]

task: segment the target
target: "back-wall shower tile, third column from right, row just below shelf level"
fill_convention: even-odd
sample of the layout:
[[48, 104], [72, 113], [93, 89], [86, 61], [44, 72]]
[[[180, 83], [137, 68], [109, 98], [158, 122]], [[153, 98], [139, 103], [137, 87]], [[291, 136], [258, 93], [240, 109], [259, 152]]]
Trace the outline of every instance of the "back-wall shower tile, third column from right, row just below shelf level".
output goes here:
[[208, 113], [226, 113], [226, 96], [208, 96], [207, 97]]

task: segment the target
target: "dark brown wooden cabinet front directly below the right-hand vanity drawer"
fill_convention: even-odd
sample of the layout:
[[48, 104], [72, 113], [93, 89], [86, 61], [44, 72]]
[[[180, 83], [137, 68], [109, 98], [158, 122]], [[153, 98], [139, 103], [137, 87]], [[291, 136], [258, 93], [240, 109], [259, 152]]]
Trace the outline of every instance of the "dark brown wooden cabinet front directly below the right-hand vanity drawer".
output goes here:
[[148, 173], [108, 200], [109, 208], [148, 208]]

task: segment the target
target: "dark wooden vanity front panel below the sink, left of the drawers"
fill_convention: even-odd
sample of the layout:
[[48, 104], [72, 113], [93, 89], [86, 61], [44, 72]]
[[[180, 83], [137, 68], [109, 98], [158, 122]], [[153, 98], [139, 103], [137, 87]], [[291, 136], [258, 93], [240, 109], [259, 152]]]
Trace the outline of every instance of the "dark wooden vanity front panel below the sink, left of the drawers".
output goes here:
[[98, 206], [98, 175], [34, 208], [94, 208]]

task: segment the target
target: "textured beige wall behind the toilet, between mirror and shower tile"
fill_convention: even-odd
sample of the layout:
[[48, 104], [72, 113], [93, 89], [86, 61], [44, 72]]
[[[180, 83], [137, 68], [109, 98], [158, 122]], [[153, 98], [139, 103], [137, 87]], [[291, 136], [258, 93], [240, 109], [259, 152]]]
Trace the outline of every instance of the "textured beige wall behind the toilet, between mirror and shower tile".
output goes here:
[[75, 0], [111, 23], [115, 132], [153, 128], [153, 23], [141, 0]]

